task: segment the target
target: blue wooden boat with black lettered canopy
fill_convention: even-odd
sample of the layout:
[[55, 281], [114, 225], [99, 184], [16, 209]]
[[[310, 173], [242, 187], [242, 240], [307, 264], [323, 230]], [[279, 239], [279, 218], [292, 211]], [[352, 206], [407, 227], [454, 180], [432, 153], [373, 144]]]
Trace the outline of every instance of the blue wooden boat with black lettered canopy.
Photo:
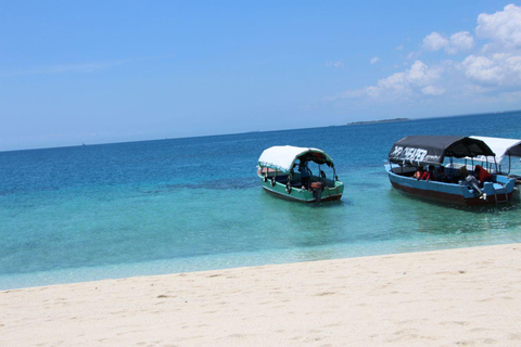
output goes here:
[[[393, 144], [385, 169], [393, 188], [420, 198], [465, 206], [510, 201], [516, 180], [474, 166], [476, 156], [495, 154], [485, 142], [469, 137], [410, 136]], [[425, 167], [429, 175], [418, 178]], [[478, 171], [487, 174], [486, 180], [479, 181]]]

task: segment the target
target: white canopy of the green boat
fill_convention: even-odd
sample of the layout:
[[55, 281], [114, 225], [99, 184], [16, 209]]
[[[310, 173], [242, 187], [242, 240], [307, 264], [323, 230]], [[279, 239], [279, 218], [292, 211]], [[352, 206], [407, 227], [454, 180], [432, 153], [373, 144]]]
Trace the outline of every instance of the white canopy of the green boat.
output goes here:
[[293, 168], [295, 160], [301, 158], [319, 165], [327, 164], [328, 166], [333, 166], [333, 160], [326, 152], [318, 149], [295, 147], [292, 145], [276, 145], [265, 150], [258, 158], [258, 166], [289, 172]]

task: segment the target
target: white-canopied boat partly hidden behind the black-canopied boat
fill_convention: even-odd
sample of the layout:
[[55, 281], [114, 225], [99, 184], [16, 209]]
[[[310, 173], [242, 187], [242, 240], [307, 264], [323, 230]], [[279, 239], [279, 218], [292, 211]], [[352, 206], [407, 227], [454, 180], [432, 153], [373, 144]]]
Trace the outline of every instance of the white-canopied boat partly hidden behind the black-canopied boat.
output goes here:
[[485, 163], [484, 165], [486, 165], [486, 167], [490, 168], [492, 172], [513, 178], [516, 179], [516, 184], [521, 184], [521, 172], [511, 172], [512, 157], [521, 158], [521, 140], [475, 136], [472, 136], [471, 138], [485, 142], [486, 145], [490, 146], [491, 150], [495, 153], [495, 156], [479, 155], [474, 158], [475, 160]]

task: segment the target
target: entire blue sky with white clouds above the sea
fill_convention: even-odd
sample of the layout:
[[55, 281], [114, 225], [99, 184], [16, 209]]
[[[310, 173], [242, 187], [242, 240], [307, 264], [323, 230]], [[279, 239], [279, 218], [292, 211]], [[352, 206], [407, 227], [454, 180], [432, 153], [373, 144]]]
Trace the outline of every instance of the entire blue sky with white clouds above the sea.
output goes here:
[[0, 151], [521, 110], [521, 1], [0, 0]]

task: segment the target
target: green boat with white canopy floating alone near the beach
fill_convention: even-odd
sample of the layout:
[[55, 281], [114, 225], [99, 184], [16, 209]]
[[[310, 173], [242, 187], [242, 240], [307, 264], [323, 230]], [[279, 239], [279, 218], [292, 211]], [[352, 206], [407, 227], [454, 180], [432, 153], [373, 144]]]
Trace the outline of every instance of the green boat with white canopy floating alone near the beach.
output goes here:
[[[308, 167], [314, 163], [315, 172]], [[328, 177], [326, 167], [332, 171]], [[266, 192], [303, 203], [336, 201], [344, 183], [339, 181], [331, 157], [318, 149], [276, 145], [258, 158], [257, 176]]]

